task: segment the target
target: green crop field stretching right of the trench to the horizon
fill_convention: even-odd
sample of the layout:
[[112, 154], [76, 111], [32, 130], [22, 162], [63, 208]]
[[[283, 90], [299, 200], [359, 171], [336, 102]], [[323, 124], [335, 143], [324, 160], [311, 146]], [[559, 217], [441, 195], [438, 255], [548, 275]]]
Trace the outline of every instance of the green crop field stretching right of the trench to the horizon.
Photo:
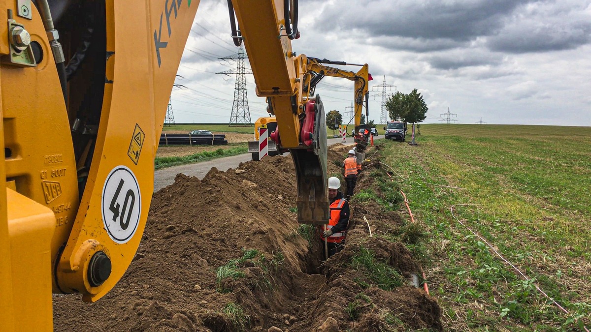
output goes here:
[[444, 326], [591, 328], [591, 128], [420, 129], [418, 147], [386, 141], [381, 155], [428, 235], [413, 253]]

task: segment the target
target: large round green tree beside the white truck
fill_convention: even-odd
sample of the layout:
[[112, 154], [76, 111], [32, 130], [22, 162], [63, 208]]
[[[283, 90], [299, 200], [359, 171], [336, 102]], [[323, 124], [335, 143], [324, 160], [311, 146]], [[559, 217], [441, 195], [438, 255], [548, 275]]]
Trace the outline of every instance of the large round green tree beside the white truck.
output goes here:
[[427, 118], [426, 113], [429, 110], [423, 96], [418, 93], [417, 89], [408, 94], [397, 91], [386, 101], [386, 109], [394, 121], [408, 123], [423, 122]]

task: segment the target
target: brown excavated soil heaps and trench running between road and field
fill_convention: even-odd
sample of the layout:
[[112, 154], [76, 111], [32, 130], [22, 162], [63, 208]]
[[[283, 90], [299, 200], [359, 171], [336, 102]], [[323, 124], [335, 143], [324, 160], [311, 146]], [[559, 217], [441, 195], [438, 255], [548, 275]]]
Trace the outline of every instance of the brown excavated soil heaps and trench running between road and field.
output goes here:
[[[329, 149], [329, 175], [342, 178], [347, 150]], [[410, 285], [420, 267], [400, 241], [408, 227], [379, 165], [360, 175], [345, 249], [326, 262], [317, 230], [296, 222], [291, 158], [214, 168], [201, 181], [177, 175], [154, 194], [121, 281], [92, 304], [54, 295], [54, 329], [442, 330], [437, 302]]]

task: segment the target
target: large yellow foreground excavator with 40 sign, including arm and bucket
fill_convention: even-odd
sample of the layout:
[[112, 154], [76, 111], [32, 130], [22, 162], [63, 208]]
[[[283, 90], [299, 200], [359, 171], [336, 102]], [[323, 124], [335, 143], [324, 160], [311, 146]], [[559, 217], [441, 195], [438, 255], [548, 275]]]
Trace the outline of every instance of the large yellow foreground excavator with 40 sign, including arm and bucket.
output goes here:
[[[199, 0], [0, 0], [0, 324], [53, 328], [52, 292], [94, 302], [134, 258], [154, 155]], [[300, 223], [326, 224], [326, 121], [296, 55], [297, 0], [228, 0]]]

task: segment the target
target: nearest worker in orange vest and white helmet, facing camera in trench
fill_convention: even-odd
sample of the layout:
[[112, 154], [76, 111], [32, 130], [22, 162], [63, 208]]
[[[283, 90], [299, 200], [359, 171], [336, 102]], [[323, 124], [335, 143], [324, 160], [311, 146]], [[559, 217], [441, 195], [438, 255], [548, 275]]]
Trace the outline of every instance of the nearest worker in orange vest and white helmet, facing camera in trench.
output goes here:
[[345, 237], [349, 228], [349, 203], [339, 191], [340, 180], [329, 178], [330, 220], [326, 230], [320, 233], [320, 239], [328, 244], [329, 257], [335, 255], [345, 246]]

